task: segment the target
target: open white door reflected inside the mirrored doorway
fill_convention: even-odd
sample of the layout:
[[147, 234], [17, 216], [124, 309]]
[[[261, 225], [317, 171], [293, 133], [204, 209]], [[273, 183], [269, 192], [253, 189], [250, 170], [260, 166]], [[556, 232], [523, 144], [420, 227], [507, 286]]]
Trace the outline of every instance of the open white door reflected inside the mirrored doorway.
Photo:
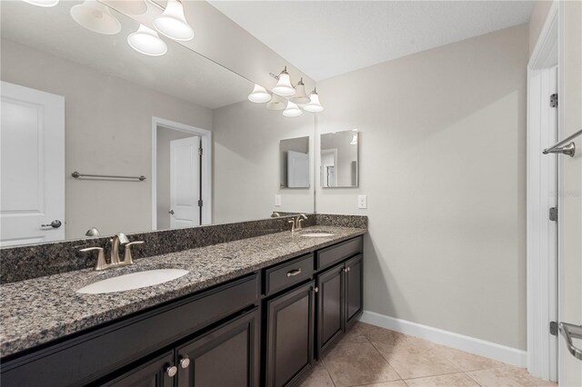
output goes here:
[[200, 136], [170, 142], [170, 227], [200, 225]]

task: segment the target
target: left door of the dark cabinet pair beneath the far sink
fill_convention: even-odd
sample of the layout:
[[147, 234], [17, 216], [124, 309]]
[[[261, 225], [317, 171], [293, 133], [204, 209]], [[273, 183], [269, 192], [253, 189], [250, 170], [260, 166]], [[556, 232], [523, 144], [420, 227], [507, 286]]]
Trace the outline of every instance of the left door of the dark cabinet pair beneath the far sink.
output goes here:
[[317, 358], [338, 340], [344, 330], [344, 264], [318, 274], [317, 284]]

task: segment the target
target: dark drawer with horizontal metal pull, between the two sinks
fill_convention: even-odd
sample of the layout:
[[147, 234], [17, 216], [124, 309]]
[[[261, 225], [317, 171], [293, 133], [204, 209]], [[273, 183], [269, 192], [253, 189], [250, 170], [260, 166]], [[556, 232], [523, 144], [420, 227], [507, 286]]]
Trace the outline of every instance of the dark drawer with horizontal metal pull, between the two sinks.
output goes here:
[[291, 262], [277, 264], [265, 270], [265, 295], [282, 291], [311, 278], [313, 254], [303, 255]]

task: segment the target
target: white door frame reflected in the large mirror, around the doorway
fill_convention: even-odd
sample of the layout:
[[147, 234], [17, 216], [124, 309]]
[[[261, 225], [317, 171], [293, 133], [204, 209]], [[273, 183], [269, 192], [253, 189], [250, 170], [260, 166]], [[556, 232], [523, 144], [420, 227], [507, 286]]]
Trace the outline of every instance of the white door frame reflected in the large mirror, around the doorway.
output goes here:
[[202, 224], [212, 224], [212, 132], [165, 118], [152, 117], [152, 230], [157, 230], [157, 126], [199, 135], [202, 141]]

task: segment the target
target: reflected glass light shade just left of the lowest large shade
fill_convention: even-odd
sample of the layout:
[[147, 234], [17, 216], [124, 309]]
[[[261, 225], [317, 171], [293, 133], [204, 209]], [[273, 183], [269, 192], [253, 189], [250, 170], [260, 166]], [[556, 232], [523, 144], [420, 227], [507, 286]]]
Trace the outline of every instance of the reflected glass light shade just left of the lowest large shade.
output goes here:
[[111, 15], [107, 5], [96, 0], [85, 0], [71, 8], [71, 17], [81, 26], [97, 34], [115, 35], [121, 31], [121, 23]]

